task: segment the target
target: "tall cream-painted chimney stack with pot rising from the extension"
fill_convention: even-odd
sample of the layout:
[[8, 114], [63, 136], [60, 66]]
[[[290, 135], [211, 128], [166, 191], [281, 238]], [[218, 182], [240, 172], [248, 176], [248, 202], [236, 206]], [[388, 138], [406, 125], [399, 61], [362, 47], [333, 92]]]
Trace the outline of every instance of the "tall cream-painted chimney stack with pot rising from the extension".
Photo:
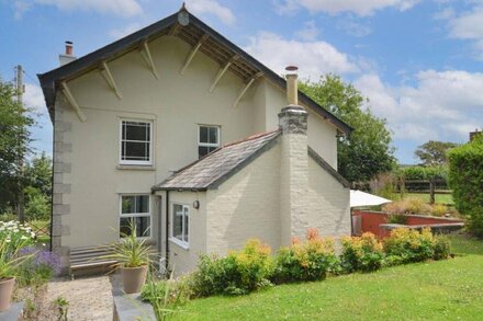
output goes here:
[[280, 159], [281, 243], [303, 239], [308, 223], [307, 112], [299, 105], [297, 68], [289, 66], [287, 74], [288, 106], [279, 113], [282, 131]]

